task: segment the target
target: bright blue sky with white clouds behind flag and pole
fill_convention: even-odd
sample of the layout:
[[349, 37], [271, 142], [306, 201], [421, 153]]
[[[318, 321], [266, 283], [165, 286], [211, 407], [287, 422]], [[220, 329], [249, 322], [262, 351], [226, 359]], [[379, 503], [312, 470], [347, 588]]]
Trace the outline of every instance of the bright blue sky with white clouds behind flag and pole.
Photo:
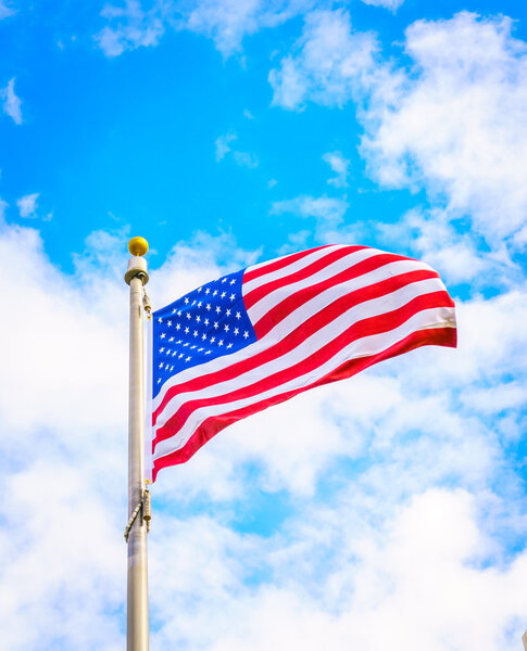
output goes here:
[[154, 488], [152, 649], [519, 648], [517, 1], [0, 2], [2, 630], [125, 636], [126, 243], [154, 307], [324, 243], [432, 265], [460, 345], [222, 432]]

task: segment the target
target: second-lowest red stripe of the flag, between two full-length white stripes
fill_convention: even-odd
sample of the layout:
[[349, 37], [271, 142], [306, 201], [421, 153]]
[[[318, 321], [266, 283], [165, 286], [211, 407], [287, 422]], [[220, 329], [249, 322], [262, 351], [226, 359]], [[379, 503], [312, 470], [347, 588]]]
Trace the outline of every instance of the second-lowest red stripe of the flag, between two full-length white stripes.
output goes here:
[[152, 443], [152, 448], [155, 449], [155, 446], [161, 441], [165, 441], [166, 438], [174, 436], [180, 430], [180, 427], [183, 427], [189, 416], [196, 409], [258, 396], [259, 394], [262, 394], [276, 386], [280, 386], [321, 367], [335, 355], [337, 355], [350, 342], [365, 336], [389, 332], [424, 309], [432, 307], [448, 307], [450, 304], [451, 298], [444, 291], [416, 296], [406, 303], [406, 305], [396, 310], [375, 317], [368, 317], [353, 323], [350, 326], [350, 328], [328, 342], [325, 346], [313, 352], [309, 357], [305, 357], [297, 363], [288, 366], [287, 368], [281, 369], [272, 375], [266, 375], [249, 386], [243, 386], [235, 390], [234, 392], [227, 392], [223, 395], [210, 398], [187, 400], [166, 421], [166, 423], [158, 430], [155, 438]]

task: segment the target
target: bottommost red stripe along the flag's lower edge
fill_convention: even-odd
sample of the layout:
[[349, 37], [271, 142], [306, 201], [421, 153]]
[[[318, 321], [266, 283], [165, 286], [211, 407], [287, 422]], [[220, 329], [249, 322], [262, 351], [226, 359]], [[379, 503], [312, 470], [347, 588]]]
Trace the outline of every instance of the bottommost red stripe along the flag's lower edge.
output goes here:
[[196, 432], [192, 434], [192, 436], [189, 438], [189, 441], [185, 444], [183, 448], [170, 455], [166, 455], [165, 457], [161, 457], [160, 459], [154, 460], [152, 470], [152, 481], [155, 482], [158, 473], [161, 469], [167, 468], [170, 465], [176, 465], [178, 463], [185, 463], [200, 449], [200, 447], [202, 447], [218, 432], [221, 432], [228, 425], [241, 420], [242, 418], [251, 416], [252, 413], [256, 413], [258, 411], [262, 411], [263, 409], [265, 409], [266, 407], [271, 407], [272, 405], [284, 403], [285, 400], [288, 400], [294, 395], [302, 393], [303, 391], [306, 391], [309, 388], [350, 378], [351, 375], [359, 373], [360, 371], [373, 366], [374, 363], [377, 363], [384, 359], [389, 359], [390, 357], [396, 357], [397, 355], [401, 355], [403, 353], [407, 353], [414, 348], [418, 348], [419, 346], [436, 345], [455, 347], [456, 336], [457, 333], [455, 328], [435, 328], [431, 330], [418, 330], [416, 332], [412, 332], [405, 339], [401, 340], [397, 344], [393, 344], [393, 346], [390, 346], [386, 350], [378, 353], [377, 355], [372, 355], [371, 357], [362, 357], [361, 359], [352, 359], [350, 361], [344, 362], [338, 369], [331, 371], [325, 378], [317, 380], [310, 386], [304, 386], [299, 390], [281, 394], [279, 396], [274, 396], [273, 398], [262, 400], [261, 403], [254, 403], [253, 405], [249, 405], [247, 407], [237, 409], [235, 411], [230, 411], [228, 413], [211, 417], [210, 419], [201, 423], [201, 425], [196, 430]]

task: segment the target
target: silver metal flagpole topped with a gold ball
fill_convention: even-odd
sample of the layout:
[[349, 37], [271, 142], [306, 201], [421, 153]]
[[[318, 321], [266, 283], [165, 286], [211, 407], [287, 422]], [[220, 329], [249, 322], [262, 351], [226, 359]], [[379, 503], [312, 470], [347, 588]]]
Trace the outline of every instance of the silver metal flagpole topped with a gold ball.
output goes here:
[[[128, 403], [128, 518], [142, 499], [145, 478], [145, 360], [142, 286], [148, 282], [148, 251], [143, 238], [133, 238], [128, 243], [131, 258], [125, 281], [130, 285], [130, 347], [129, 347], [129, 403]], [[129, 523], [128, 523], [129, 526]], [[128, 529], [127, 526], [127, 529]], [[127, 532], [127, 651], [148, 651], [148, 566], [147, 523], [142, 509]]]

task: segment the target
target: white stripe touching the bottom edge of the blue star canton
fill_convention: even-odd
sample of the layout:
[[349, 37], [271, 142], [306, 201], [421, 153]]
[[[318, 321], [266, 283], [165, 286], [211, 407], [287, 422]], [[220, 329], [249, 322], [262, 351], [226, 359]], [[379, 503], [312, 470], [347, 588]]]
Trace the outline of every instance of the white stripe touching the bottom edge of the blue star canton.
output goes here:
[[[346, 295], [354, 290], [367, 286], [368, 284], [375, 284], [384, 278], [389, 278], [390, 276], [396, 277], [400, 273], [405, 273], [409, 270], [414, 270], [416, 265], [417, 268], [419, 268], [419, 264], [421, 263], [415, 263], [414, 260], [398, 260], [396, 263], [389, 263], [388, 265], [385, 265], [379, 269], [369, 271], [368, 273], [364, 273], [353, 280], [331, 285], [330, 288], [328, 288], [324, 292], [321, 292], [303, 305], [300, 305], [296, 310], [293, 310], [281, 321], [279, 321], [273, 328], [273, 330], [271, 330], [260, 341], [254, 342], [250, 346], [241, 348], [240, 350], [238, 350], [237, 353], [233, 353], [231, 355], [225, 355], [223, 357], [212, 359], [211, 361], [201, 365], [199, 367], [199, 371], [197, 371], [195, 367], [186, 369], [179, 372], [177, 375], [173, 375], [172, 378], [170, 378], [162, 386], [160, 393], [153, 399], [153, 410], [155, 411], [159, 408], [168, 388], [192, 380], [197, 376], [198, 372], [201, 376], [209, 375], [222, 371], [225, 368], [237, 363], [238, 361], [247, 359], [248, 357], [253, 357], [262, 350], [267, 349], [274, 343], [279, 342], [280, 340], [286, 337], [296, 328], [298, 328], [300, 323], [303, 323], [312, 315], [318, 312], [321, 309], [324, 309], [325, 307], [330, 305], [335, 299], [339, 298], [339, 296]], [[444, 286], [439, 281], [439, 279], [431, 280], [439, 284], [439, 286], [436, 288], [436, 291], [444, 290]]]

